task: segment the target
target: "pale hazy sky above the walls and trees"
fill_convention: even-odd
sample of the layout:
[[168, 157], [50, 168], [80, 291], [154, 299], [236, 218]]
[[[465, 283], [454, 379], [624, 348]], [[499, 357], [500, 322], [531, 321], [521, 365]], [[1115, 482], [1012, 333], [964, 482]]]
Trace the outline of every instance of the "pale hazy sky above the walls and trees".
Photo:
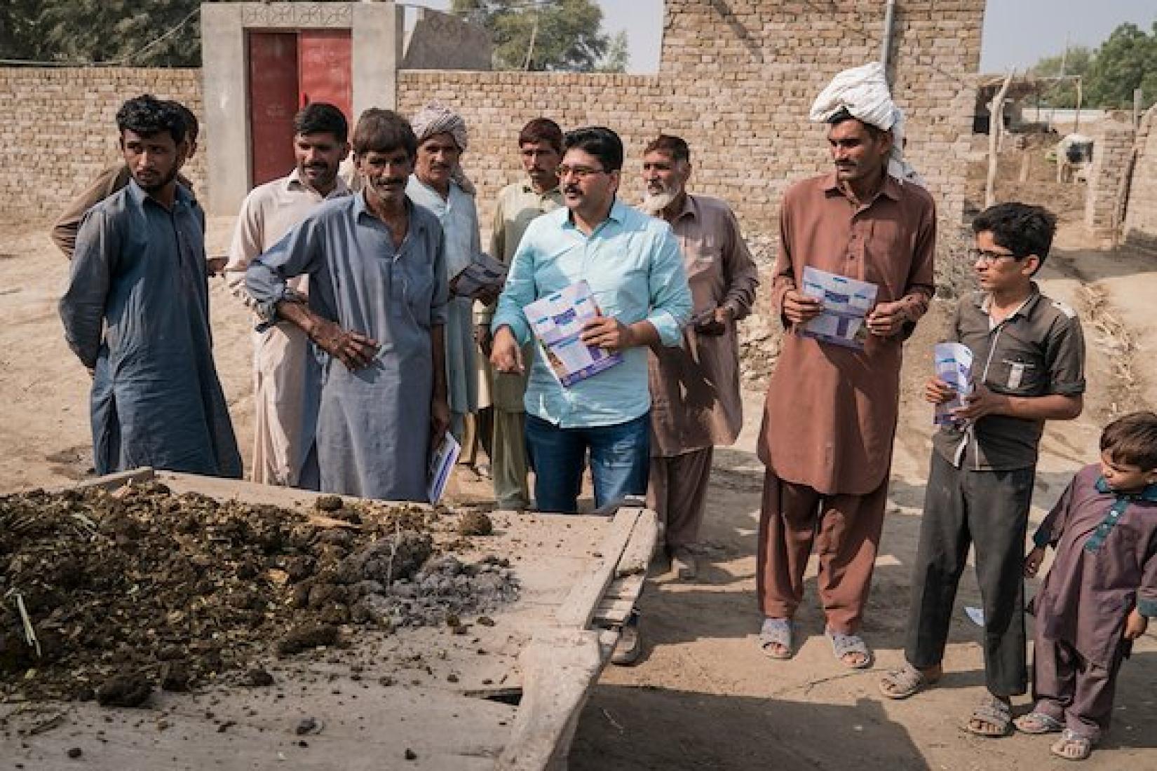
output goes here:
[[[445, 9], [449, 0], [408, 0], [414, 5]], [[772, 1], [772, 0], [769, 0]], [[658, 69], [663, 34], [663, 0], [598, 0], [603, 28], [611, 34], [627, 30], [631, 72]], [[880, 0], [880, 22], [884, 2]], [[1145, 31], [1157, 22], [1157, 0], [988, 0], [985, 14], [981, 72], [1024, 69], [1041, 57], [1071, 45], [1095, 46], [1122, 22]]]

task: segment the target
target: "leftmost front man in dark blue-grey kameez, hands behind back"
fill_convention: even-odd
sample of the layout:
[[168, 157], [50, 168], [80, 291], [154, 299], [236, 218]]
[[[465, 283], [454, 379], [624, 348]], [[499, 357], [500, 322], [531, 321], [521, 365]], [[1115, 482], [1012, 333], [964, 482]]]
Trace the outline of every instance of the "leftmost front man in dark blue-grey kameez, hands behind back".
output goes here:
[[185, 118], [146, 95], [120, 106], [117, 127], [132, 179], [84, 215], [60, 299], [65, 339], [93, 376], [96, 472], [239, 477], [213, 364], [205, 213], [177, 184]]

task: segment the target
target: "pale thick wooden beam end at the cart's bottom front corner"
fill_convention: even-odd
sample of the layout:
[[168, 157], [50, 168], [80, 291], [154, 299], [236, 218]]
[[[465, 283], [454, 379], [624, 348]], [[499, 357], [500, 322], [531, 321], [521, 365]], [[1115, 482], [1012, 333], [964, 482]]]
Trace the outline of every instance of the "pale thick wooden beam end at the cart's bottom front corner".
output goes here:
[[603, 669], [599, 632], [555, 629], [535, 636], [518, 657], [523, 698], [499, 771], [566, 769], [570, 740]]

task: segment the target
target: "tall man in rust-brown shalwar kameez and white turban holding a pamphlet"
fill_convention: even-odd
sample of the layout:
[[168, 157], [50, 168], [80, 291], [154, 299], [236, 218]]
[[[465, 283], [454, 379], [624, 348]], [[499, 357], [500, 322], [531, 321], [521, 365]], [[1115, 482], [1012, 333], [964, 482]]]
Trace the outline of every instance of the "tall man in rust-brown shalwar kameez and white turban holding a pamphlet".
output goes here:
[[[935, 289], [936, 212], [902, 162], [902, 113], [878, 62], [835, 76], [812, 105], [834, 172], [793, 185], [780, 206], [772, 305], [784, 335], [767, 391], [757, 579], [760, 648], [794, 653], [812, 544], [826, 635], [847, 667], [871, 666], [860, 636], [884, 521], [904, 340]], [[862, 349], [795, 334], [823, 310], [801, 291], [805, 266], [878, 288]]]

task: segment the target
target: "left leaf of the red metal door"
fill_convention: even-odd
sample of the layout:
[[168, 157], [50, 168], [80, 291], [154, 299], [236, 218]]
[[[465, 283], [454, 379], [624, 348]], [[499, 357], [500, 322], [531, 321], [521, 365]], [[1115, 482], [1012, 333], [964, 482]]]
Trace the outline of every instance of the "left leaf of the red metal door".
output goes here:
[[249, 32], [249, 151], [252, 185], [294, 168], [297, 34]]

